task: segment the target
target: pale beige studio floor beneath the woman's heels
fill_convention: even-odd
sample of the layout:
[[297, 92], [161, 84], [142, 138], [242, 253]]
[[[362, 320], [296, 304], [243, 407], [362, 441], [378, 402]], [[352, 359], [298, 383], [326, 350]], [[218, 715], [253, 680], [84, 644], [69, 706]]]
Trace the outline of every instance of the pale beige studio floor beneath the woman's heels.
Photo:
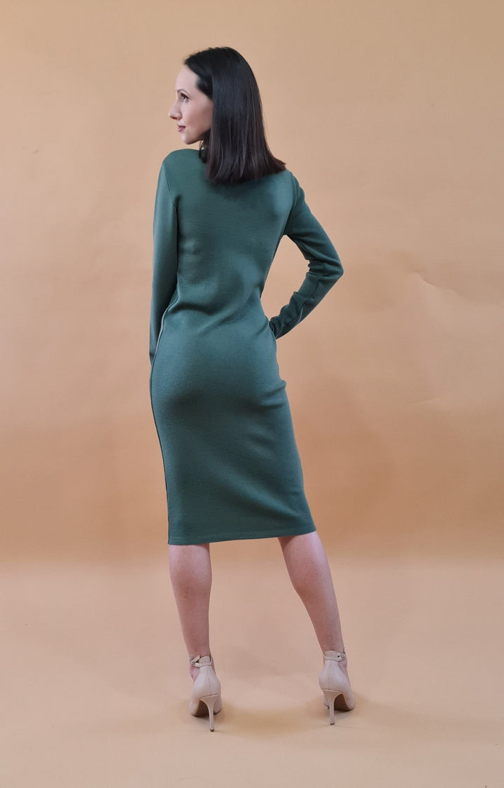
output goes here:
[[263, 544], [212, 548], [214, 733], [187, 710], [166, 546], [4, 567], [0, 784], [502, 786], [502, 562], [329, 556], [356, 698], [331, 727], [311, 624]]

